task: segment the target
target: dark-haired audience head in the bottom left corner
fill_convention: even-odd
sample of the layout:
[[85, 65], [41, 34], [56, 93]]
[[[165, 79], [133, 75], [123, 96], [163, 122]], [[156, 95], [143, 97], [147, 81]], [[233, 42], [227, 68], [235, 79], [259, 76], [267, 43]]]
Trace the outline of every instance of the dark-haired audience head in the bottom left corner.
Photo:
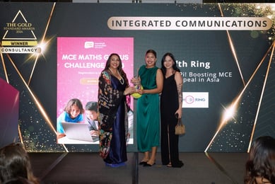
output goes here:
[[8, 144], [0, 149], [0, 183], [39, 183], [23, 144]]

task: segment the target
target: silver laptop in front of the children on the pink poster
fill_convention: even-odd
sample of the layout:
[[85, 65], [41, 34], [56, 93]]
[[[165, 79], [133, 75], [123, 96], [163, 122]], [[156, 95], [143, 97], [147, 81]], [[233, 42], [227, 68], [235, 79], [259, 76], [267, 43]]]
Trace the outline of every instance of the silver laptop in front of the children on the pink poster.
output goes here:
[[88, 124], [86, 123], [74, 123], [74, 122], [62, 122], [66, 137], [69, 139], [76, 139], [86, 142], [96, 142], [98, 137], [92, 137]]

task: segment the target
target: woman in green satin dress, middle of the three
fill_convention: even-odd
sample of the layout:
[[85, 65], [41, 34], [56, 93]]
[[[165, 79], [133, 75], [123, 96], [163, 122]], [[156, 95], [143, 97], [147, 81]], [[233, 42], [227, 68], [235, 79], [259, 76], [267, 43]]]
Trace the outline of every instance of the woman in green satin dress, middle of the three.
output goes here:
[[[156, 151], [160, 145], [160, 96], [163, 90], [163, 74], [156, 67], [156, 51], [148, 50], [145, 55], [146, 64], [139, 69], [142, 95], [137, 100], [136, 137], [139, 151], [144, 158], [139, 163], [144, 166], [153, 166], [156, 161]], [[131, 82], [135, 83], [135, 79]], [[150, 155], [151, 152], [151, 155]]]

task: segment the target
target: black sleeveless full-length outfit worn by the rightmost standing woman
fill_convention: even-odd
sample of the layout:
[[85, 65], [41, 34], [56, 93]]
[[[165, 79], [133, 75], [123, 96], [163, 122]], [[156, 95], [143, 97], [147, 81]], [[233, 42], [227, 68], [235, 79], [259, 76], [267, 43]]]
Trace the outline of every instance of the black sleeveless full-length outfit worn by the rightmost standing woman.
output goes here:
[[179, 136], [175, 134], [175, 125], [177, 125], [175, 112], [179, 108], [178, 100], [175, 74], [172, 74], [168, 78], [164, 78], [163, 92], [160, 96], [161, 161], [163, 165], [168, 165], [171, 162], [172, 167], [183, 166], [182, 161], [179, 160]]

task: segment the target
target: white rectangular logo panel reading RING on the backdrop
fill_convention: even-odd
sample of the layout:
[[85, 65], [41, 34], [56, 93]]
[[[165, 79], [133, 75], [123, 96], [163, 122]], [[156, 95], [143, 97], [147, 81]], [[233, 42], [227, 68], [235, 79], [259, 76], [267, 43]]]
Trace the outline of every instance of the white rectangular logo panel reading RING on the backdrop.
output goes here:
[[182, 108], [208, 108], [208, 92], [183, 92]]

